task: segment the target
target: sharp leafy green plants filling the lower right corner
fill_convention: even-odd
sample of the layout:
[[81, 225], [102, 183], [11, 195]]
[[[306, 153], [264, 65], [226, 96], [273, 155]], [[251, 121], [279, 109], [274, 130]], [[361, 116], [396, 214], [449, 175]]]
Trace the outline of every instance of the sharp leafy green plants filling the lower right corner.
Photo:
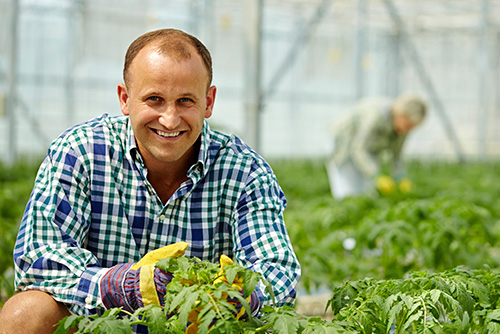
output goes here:
[[488, 268], [364, 279], [333, 290], [335, 321], [358, 333], [500, 333], [500, 278]]

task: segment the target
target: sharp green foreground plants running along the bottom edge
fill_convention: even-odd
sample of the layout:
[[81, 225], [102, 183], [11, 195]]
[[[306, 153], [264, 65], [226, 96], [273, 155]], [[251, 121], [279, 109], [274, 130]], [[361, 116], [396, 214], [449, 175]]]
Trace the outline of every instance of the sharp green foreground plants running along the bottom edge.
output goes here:
[[326, 305], [333, 319], [324, 320], [285, 306], [266, 306], [260, 317], [239, 318], [238, 309], [229, 301], [239, 300], [250, 314], [244, 296], [252, 293], [261, 276], [236, 264], [221, 269], [180, 257], [162, 260], [157, 266], [174, 274], [165, 307], [72, 315], [60, 321], [56, 334], [72, 329], [129, 334], [133, 326], [144, 326], [151, 334], [500, 333], [500, 277], [489, 269], [457, 268], [437, 274], [413, 272], [397, 280], [346, 281], [332, 291]]

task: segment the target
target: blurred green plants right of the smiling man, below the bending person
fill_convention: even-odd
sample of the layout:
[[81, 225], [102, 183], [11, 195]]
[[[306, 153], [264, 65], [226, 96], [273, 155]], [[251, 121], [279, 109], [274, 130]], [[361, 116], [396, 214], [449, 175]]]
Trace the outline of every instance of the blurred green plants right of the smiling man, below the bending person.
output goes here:
[[346, 279], [499, 266], [498, 162], [413, 161], [412, 192], [341, 201], [331, 197], [321, 161], [273, 168], [289, 202], [285, 221], [308, 292]]

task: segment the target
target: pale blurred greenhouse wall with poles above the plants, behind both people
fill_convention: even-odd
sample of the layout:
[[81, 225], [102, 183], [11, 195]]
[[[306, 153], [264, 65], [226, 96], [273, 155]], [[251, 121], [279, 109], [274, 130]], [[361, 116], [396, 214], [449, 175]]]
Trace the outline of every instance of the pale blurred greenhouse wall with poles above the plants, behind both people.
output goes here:
[[128, 45], [174, 27], [212, 53], [213, 127], [266, 158], [325, 156], [356, 100], [406, 91], [430, 111], [406, 155], [496, 157], [499, 21], [499, 0], [0, 0], [0, 154], [120, 114]]

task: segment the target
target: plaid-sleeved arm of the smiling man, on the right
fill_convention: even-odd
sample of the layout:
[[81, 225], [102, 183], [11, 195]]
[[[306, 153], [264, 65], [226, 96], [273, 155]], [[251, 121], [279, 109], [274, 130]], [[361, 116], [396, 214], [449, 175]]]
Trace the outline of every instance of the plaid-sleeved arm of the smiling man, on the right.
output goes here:
[[[235, 258], [263, 274], [277, 305], [292, 306], [301, 269], [283, 220], [285, 196], [270, 169], [257, 169], [249, 179], [234, 216]], [[261, 306], [270, 305], [264, 286], [256, 290]]]

